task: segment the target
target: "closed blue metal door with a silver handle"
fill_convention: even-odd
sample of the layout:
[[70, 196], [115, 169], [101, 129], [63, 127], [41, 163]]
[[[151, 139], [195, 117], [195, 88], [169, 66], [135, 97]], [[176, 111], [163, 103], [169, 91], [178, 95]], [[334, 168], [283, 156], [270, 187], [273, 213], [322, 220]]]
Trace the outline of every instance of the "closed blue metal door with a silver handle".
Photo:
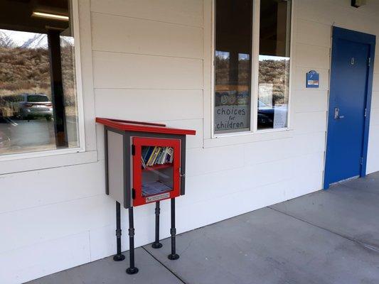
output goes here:
[[345, 35], [339, 37], [336, 29], [331, 56], [325, 189], [362, 175], [367, 134], [371, 45], [348, 38], [348, 31], [338, 28]]

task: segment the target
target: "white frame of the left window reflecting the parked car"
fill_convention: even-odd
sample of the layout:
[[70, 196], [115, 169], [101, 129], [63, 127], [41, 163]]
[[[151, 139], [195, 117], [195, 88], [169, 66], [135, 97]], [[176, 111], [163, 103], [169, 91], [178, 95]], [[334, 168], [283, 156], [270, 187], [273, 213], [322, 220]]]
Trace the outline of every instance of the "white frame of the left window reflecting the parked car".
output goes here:
[[[68, 0], [70, 16], [72, 17], [71, 24], [73, 25], [74, 33], [74, 53], [75, 53], [75, 91], [76, 91], [76, 107], [78, 109], [78, 138], [79, 146], [75, 148], [63, 148], [54, 150], [42, 150], [42, 151], [26, 151], [22, 153], [11, 153], [0, 155], [0, 162], [11, 161], [24, 158], [41, 158], [52, 155], [63, 155], [82, 153], [86, 151], [85, 141], [85, 116], [84, 116], [84, 100], [83, 100], [83, 84], [82, 84], [82, 62], [81, 62], [81, 48], [80, 48], [80, 27], [79, 27], [79, 0]], [[76, 164], [76, 163], [75, 163]], [[44, 168], [44, 167], [43, 167]], [[48, 167], [51, 168], [51, 167]], [[8, 173], [8, 171], [5, 171]], [[0, 175], [3, 173], [0, 170]]]

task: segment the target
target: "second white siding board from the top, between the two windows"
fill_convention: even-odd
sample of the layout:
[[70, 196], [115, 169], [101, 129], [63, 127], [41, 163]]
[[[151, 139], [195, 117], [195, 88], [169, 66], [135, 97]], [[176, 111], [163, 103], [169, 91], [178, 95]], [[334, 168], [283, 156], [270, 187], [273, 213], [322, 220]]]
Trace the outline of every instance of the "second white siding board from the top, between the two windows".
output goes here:
[[92, 13], [94, 50], [203, 58], [203, 29], [140, 18]]

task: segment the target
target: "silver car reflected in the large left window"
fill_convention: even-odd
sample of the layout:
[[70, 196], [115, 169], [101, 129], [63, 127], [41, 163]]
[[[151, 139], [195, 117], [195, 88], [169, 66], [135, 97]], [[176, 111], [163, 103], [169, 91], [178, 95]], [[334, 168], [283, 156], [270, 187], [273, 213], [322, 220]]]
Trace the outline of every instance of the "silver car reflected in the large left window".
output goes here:
[[53, 118], [53, 104], [46, 94], [21, 94], [14, 102], [14, 110], [20, 119]]

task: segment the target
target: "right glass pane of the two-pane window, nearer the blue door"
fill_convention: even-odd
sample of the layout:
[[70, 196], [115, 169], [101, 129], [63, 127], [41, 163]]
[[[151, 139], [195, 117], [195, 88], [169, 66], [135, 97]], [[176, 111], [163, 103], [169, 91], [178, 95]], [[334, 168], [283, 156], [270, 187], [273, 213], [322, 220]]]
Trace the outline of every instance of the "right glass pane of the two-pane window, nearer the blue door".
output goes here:
[[257, 129], [287, 127], [291, 1], [260, 2]]

